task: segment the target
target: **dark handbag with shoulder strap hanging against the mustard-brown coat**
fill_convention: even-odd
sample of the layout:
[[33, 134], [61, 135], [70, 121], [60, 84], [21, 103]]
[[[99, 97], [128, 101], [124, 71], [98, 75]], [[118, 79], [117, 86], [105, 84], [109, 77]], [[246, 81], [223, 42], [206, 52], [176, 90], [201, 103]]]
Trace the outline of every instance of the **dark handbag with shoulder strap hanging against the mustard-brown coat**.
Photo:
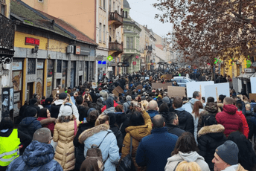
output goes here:
[[118, 165], [119, 171], [135, 171], [135, 166], [132, 161], [132, 136], [129, 144], [129, 154], [121, 159]]

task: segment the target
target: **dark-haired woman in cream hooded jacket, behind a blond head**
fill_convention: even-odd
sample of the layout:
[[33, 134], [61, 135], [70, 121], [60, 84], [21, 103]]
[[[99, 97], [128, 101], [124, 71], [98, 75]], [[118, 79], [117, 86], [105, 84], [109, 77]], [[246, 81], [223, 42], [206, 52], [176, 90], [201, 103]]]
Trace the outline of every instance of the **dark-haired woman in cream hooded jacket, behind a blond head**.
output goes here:
[[201, 170], [209, 171], [210, 169], [208, 164], [205, 162], [205, 159], [196, 151], [198, 151], [198, 148], [196, 146], [195, 138], [193, 138], [191, 132], [183, 133], [176, 142], [176, 146], [171, 153], [172, 156], [167, 159], [167, 164], [164, 170], [174, 171], [179, 162], [194, 161], [199, 164]]

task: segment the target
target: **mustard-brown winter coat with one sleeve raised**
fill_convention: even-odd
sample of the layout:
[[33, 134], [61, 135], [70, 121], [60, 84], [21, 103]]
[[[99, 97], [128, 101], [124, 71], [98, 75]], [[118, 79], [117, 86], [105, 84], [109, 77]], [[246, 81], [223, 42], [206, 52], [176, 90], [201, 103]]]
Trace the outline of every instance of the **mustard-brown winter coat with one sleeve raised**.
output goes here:
[[124, 158], [129, 154], [129, 143], [130, 143], [130, 137], [132, 136], [132, 160], [135, 164], [135, 167], [138, 167], [138, 164], [136, 164], [135, 156], [138, 148], [138, 144], [140, 143], [141, 139], [144, 138], [147, 135], [150, 135], [150, 132], [152, 130], [152, 122], [150, 119], [150, 115], [143, 111], [142, 117], [144, 118], [145, 124], [142, 126], [129, 126], [125, 129], [127, 132], [127, 135], [124, 137], [123, 142], [123, 148], [122, 148], [122, 156], [121, 158]]

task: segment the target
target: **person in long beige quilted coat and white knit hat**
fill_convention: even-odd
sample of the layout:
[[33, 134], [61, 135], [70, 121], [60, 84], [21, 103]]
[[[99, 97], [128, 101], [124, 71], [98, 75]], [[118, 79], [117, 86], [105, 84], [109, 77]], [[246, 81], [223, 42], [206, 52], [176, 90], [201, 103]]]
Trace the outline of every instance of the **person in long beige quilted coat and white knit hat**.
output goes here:
[[64, 106], [63, 112], [57, 119], [54, 127], [54, 142], [57, 142], [57, 148], [54, 160], [63, 167], [63, 170], [74, 170], [74, 144], [73, 139], [77, 133], [77, 118], [73, 114], [71, 106]]

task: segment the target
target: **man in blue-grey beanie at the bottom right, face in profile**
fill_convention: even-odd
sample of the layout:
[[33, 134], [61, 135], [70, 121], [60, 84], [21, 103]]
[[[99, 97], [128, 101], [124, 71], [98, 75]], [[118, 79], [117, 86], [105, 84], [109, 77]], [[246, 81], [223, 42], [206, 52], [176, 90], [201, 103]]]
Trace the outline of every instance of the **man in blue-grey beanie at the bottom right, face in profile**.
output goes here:
[[237, 144], [233, 141], [225, 141], [223, 145], [218, 146], [212, 159], [214, 171], [246, 171], [238, 163], [238, 151]]

